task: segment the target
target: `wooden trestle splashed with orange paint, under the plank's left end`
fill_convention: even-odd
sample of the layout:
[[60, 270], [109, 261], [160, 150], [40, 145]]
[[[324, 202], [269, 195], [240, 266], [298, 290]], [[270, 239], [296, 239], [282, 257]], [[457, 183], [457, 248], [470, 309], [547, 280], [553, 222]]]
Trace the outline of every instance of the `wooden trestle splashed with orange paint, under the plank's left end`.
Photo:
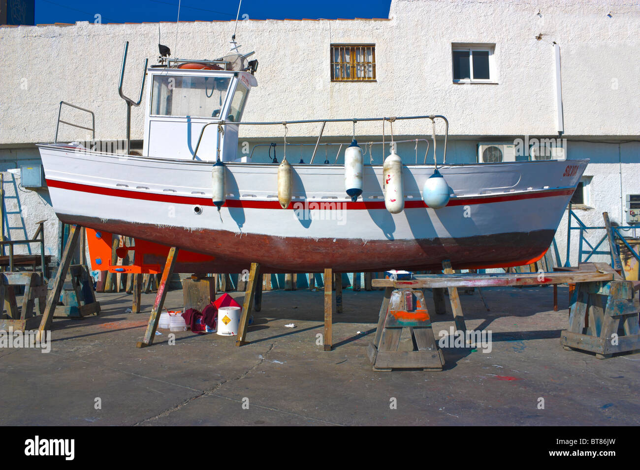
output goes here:
[[[406, 350], [401, 338], [409, 338]], [[442, 370], [444, 356], [438, 348], [422, 290], [385, 289], [376, 337], [367, 348], [375, 371], [394, 369]]]

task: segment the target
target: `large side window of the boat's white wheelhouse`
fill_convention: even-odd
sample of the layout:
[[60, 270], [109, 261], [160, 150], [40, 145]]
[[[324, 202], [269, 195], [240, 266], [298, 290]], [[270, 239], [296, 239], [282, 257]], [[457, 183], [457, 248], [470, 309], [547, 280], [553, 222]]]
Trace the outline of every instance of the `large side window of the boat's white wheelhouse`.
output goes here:
[[220, 117], [230, 78], [154, 76], [151, 114], [156, 116]]

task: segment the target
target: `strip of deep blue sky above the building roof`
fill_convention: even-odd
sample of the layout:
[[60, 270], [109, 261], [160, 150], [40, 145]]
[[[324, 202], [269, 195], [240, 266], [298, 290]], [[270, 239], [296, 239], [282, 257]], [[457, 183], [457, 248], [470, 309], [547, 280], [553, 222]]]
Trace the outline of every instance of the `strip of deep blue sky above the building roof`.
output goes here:
[[[387, 18], [390, 4], [391, 0], [243, 0], [240, 17]], [[180, 20], [235, 20], [237, 8], [237, 0], [181, 0]], [[36, 24], [93, 22], [97, 13], [103, 23], [175, 21], [178, 0], [35, 0]]]

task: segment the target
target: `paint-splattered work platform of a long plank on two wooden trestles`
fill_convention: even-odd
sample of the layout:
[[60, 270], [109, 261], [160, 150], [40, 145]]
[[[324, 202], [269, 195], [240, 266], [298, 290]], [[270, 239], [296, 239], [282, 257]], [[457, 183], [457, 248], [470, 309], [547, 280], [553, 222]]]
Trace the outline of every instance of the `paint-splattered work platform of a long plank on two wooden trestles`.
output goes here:
[[[417, 294], [420, 289], [431, 288], [436, 292], [437, 289], [448, 288], [454, 320], [457, 318], [456, 329], [464, 333], [466, 327], [458, 326], [464, 325], [464, 317], [460, 299], [455, 295], [457, 288], [558, 284], [575, 284], [576, 286], [570, 307], [569, 328], [561, 333], [561, 344], [564, 349], [595, 352], [598, 359], [606, 359], [616, 352], [640, 351], [638, 325], [640, 303], [637, 293], [634, 292], [634, 283], [624, 281], [620, 274], [606, 263], [581, 263], [578, 270], [566, 272], [505, 274], [449, 272], [419, 274], [414, 279], [405, 281], [373, 279], [374, 287], [385, 287], [386, 290], [385, 299], [380, 307], [376, 339], [369, 345], [367, 351], [369, 359], [374, 370], [394, 368], [441, 370], [437, 367], [436, 357], [430, 357], [424, 352], [431, 353], [429, 347], [438, 351], [435, 340], [431, 343], [433, 333], [428, 336], [425, 332], [420, 332], [423, 335], [422, 343], [415, 336], [418, 325], [422, 329], [431, 327], [428, 312], [422, 307], [424, 304], [421, 302], [424, 302], [424, 299], [420, 299], [420, 295]], [[415, 297], [415, 303], [413, 300], [409, 301], [408, 292]], [[451, 295], [452, 293], [454, 295]], [[401, 327], [413, 329], [411, 333], [414, 350], [412, 352], [397, 350]], [[422, 354], [415, 354], [421, 351]], [[380, 356], [381, 354], [383, 356]], [[440, 355], [439, 351], [438, 355]]]

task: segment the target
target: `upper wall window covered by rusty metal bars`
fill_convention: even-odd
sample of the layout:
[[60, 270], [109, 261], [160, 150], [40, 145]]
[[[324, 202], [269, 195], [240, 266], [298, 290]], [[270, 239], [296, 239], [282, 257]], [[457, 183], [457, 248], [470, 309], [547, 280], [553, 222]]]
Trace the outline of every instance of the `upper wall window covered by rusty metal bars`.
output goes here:
[[374, 44], [332, 44], [331, 81], [376, 81], [376, 46]]

